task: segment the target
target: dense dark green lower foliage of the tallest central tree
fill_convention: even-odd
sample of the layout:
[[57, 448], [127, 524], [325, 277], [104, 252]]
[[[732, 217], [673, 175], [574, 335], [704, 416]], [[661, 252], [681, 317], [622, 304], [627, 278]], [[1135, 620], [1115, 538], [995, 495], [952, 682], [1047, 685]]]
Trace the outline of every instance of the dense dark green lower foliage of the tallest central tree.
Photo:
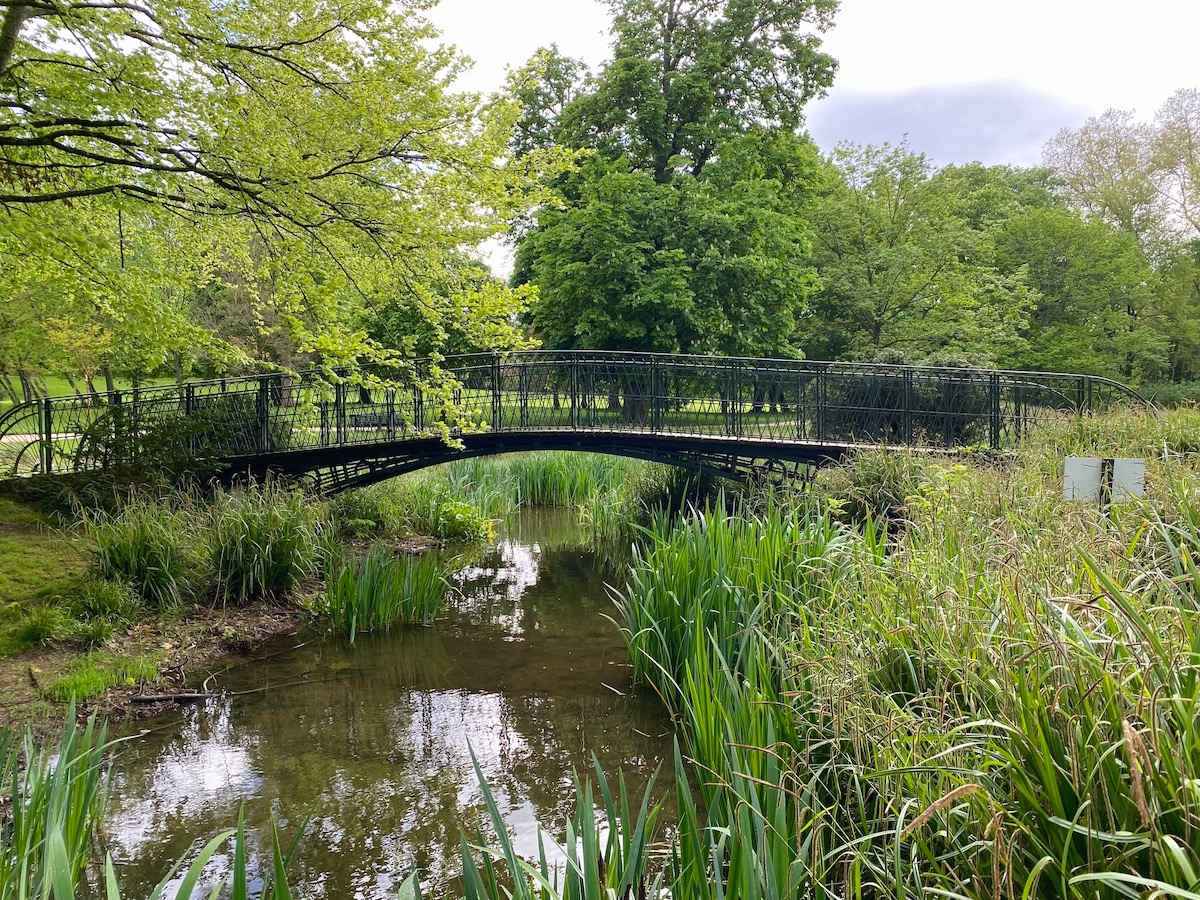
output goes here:
[[816, 152], [786, 134], [727, 142], [700, 178], [660, 184], [594, 157], [522, 241], [552, 347], [791, 355], [816, 289], [794, 196]]

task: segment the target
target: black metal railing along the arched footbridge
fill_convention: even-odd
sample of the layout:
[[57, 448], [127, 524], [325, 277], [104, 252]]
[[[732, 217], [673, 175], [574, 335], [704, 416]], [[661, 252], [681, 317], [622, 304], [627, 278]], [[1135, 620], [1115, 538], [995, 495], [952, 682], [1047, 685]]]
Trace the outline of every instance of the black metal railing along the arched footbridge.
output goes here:
[[773, 443], [1003, 450], [1039, 420], [1145, 403], [1096, 376], [598, 350], [473, 354], [366, 374], [364, 384], [275, 373], [22, 403], [0, 415], [0, 479], [146, 455], [236, 460], [485, 431], [679, 434], [757, 444], [763, 456]]

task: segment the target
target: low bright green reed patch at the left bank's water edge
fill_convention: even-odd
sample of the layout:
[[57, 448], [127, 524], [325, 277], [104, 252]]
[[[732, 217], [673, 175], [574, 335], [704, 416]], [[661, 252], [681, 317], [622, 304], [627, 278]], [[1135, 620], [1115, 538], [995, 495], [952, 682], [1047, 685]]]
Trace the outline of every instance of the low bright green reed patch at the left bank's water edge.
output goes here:
[[445, 602], [448, 582], [430, 554], [395, 557], [377, 547], [365, 558], [335, 566], [325, 592], [332, 628], [350, 643], [395, 624], [428, 625]]

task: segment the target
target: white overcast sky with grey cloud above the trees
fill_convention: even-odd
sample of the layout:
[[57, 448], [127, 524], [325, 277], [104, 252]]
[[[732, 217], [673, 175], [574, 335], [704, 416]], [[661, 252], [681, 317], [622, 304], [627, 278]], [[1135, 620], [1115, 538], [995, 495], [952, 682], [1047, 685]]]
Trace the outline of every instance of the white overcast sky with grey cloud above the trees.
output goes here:
[[[434, 22], [475, 60], [473, 90], [557, 42], [608, 50], [596, 0], [442, 0]], [[809, 109], [812, 136], [898, 142], [940, 163], [1036, 163], [1058, 128], [1106, 107], [1146, 118], [1200, 86], [1200, 0], [842, 0], [826, 46], [840, 68]]]

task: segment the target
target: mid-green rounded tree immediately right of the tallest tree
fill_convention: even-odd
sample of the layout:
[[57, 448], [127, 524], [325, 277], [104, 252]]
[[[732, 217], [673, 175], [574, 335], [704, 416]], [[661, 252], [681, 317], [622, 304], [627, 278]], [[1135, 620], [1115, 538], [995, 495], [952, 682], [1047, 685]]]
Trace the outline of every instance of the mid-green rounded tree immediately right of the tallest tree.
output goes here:
[[805, 352], [1013, 360], [1034, 298], [1021, 271], [992, 257], [986, 222], [1019, 202], [1006, 180], [936, 179], [904, 146], [839, 148], [812, 210], [822, 289]]

